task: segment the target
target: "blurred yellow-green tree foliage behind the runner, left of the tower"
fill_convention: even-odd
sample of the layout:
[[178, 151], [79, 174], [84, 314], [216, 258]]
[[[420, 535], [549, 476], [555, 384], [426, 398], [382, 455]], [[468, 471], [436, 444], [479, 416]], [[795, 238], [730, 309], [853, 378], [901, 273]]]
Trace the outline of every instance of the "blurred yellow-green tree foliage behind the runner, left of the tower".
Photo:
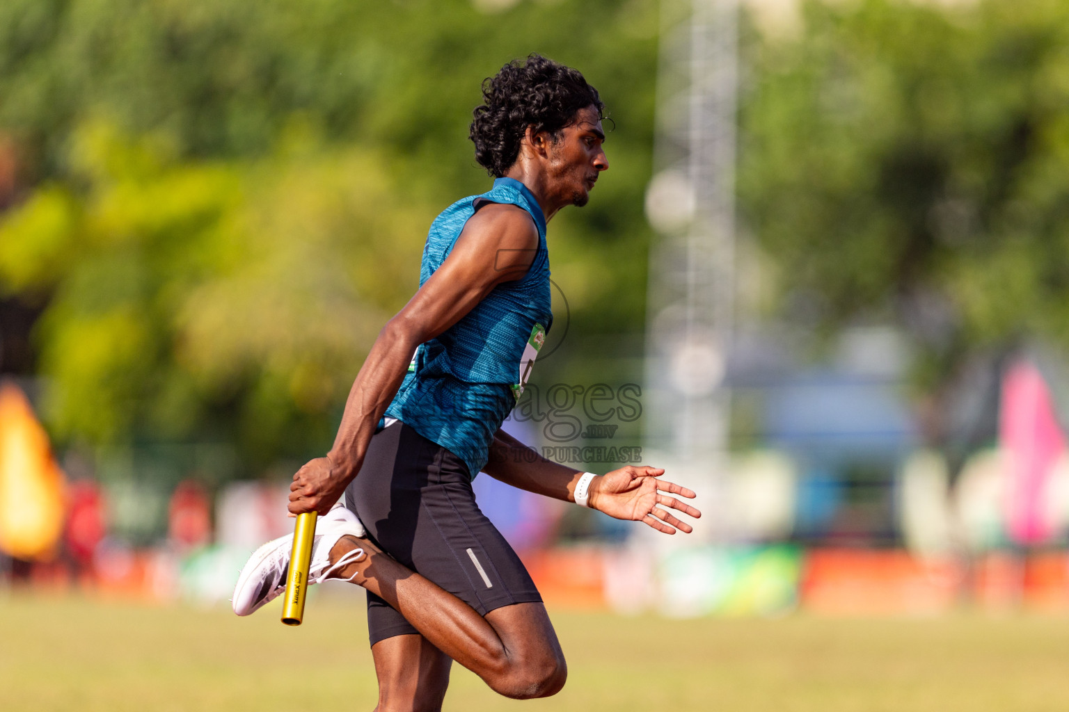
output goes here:
[[640, 329], [656, 31], [654, 0], [0, 3], [0, 294], [47, 303], [53, 433], [232, 442], [253, 473], [327, 447], [430, 220], [490, 185], [481, 80], [531, 51], [616, 121], [555, 280], [578, 329]]

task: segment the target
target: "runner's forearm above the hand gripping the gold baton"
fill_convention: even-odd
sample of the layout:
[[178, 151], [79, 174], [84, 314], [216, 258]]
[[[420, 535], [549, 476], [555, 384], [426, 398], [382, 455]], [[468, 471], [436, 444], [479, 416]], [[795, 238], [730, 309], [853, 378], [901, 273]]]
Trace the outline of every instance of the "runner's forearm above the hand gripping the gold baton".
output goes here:
[[419, 346], [420, 334], [397, 319], [378, 332], [367, 360], [353, 381], [345, 401], [345, 412], [338, 427], [334, 446], [327, 454], [335, 468], [352, 479], [359, 472], [368, 443], [379, 418], [397, 395]]

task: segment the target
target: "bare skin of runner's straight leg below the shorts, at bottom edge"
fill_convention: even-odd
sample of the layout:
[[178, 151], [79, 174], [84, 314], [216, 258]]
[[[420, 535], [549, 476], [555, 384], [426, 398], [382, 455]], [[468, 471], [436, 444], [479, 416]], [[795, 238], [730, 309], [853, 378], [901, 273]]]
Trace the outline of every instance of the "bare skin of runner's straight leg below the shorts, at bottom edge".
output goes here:
[[453, 661], [419, 634], [396, 635], [371, 646], [382, 710], [437, 712]]

